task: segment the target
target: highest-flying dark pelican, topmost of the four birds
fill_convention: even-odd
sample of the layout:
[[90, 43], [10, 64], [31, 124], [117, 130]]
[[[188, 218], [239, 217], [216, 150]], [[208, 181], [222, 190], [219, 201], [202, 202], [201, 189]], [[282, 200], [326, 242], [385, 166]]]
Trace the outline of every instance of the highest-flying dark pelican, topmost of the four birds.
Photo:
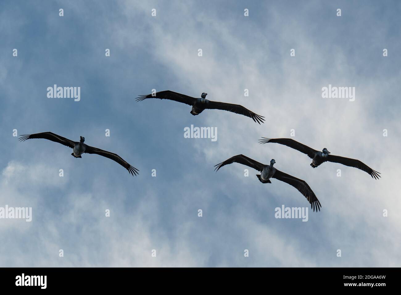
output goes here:
[[235, 114], [240, 114], [252, 118], [257, 123], [264, 123], [263, 116], [255, 114], [254, 112], [240, 106], [239, 104], [229, 104], [227, 102], [213, 102], [206, 99], [207, 93], [203, 92], [201, 98], [194, 98], [192, 96], [187, 96], [170, 90], [156, 92], [154, 94], [142, 95], [136, 98], [137, 102], [140, 102], [146, 98], [160, 98], [161, 100], [174, 100], [176, 102], [182, 102], [183, 104], [188, 104], [192, 106], [191, 114], [196, 116], [201, 114], [203, 110], [214, 109], [214, 110], [225, 110], [233, 112]]

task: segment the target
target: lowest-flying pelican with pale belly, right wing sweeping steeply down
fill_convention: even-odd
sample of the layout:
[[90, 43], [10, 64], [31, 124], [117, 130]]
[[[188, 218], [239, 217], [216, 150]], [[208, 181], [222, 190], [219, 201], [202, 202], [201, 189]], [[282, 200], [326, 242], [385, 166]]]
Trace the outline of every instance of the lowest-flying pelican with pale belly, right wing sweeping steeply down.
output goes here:
[[234, 162], [249, 166], [253, 169], [256, 169], [257, 171], [260, 171], [261, 174], [257, 174], [256, 176], [261, 183], [271, 183], [269, 179], [272, 177], [284, 181], [289, 185], [292, 185], [293, 187], [298, 189], [298, 191], [300, 191], [300, 193], [302, 193], [304, 197], [306, 197], [313, 211], [315, 211], [315, 209], [316, 212], [318, 210], [320, 211], [320, 207], [322, 207], [322, 205], [320, 205], [318, 198], [316, 197], [312, 189], [309, 187], [308, 183], [306, 183], [306, 181], [303, 181], [302, 179], [296, 178], [294, 176], [291, 176], [287, 173], [275, 169], [273, 167], [273, 165], [275, 164], [274, 159], [271, 159], [270, 165], [264, 165], [244, 155], [236, 155], [234, 157], [231, 157], [230, 159], [225, 160], [224, 162], [215, 165], [216, 167], [215, 171], [217, 172], [224, 165], [228, 165]]

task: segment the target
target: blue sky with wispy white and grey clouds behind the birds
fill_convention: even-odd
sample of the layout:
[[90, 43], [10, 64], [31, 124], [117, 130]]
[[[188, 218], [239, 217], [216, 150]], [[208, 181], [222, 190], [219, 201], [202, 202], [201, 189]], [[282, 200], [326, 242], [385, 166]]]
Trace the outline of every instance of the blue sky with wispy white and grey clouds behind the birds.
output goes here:
[[[399, 1], [2, 1], [0, 207], [30, 207], [32, 221], [0, 218], [0, 266], [401, 266], [400, 9]], [[54, 84], [80, 87], [80, 100], [48, 98]], [[355, 87], [355, 100], [322, 98], [328, 85]], [[206, 92], [266, 122], [135, 101], [152, 89]], [[217, 128], [217, 140], [184, 138], [191, 125]], [[18, 141], [46, 131], [84, 136], [140, 174], [98, 155], [75, 159], [45, 139]], [[326, 147], [382, 177], [336, 163], [312, 169], [306, 155], [260, 145], [261, 136]], [[321, 211], [238, 163], [215, 173], [238, 154], [275, 159], [310, 185]], [[282, 205], [309, 208], [308, 221], [275, 218]]]

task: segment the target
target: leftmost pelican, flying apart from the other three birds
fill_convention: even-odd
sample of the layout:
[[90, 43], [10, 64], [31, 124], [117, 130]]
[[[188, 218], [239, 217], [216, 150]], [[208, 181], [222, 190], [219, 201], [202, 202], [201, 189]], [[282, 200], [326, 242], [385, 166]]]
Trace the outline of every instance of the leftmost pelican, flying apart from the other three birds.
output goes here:
[[76, 141], [72, 141], [69, 140], [63, 136], [54, 134], [53, 132], [41, 132], [41, 133], [35, 133], [35, 134], [26, 134], [26, 135], [22, 135], [19, 140], [20, 141], [25, 141], [27, 139], [31, 139], [31, 138], [45, 138], [54, 142], [58, 142], [61, 143], [65, 146], [70, 147], [71, 149], [73, 149], [73, 153], [71, 155], [73, 155], [75, 158], [82, 158], [81, 155], [83, 153], [87, 153], [87, 154], [97, 154], [97, 155], [101, 155], [103, 157], [109, 158], [117, 163], [119, 163], [122, 167], [124, 167], [125, 169], [128, 170], [128, 172], [130, 174], [132, 174], [132, 176], [137, 175], [138, 174], [138, 169], [132, 167], [130, 164], [128, 164], [126, 161], [124, 161], [124, 159], [122, 159], [122, 157], [120, 157], [117, 154], [114, 153], [110, 153], [108, 151], [103, 151], [101, 149], [95, 148], [93, 146], [89, 146], [85, 143], [83, 143], [85, 141], [85, 137], [80, 136], [80, 140], [79, 142]]

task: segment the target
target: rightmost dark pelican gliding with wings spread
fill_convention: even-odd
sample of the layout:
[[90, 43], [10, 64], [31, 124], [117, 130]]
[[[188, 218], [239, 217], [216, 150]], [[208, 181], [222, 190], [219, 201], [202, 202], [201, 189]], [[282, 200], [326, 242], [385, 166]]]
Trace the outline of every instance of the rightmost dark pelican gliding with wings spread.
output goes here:
[[312, 163], [310, 163], [312, 168], [316, 168], [324, 162], [334, 162], [363, 170], [369, 173], [369, 175], [374, 179], [379, 179], [379, 177], [381, 177], [379, 175], [381, 174], [380, 172], [373, 170], [372, 168], [362, 163], [361, 161], [340, 156], [329, 155], [330, 152], [326, 148], [324, 148], [321, 152], [319, 152], [291, 138], [262, 137], [262, 139], [259, 139], [259, 143], [267, 143], [267, 142], [276, 142], [279, 144], [284, 144], [286, 146], [289, 146], [290, 148], [296, 149], [297, 151], [300, 151], [301, 153], [308, 155], [308, 157], [312, 159]]

